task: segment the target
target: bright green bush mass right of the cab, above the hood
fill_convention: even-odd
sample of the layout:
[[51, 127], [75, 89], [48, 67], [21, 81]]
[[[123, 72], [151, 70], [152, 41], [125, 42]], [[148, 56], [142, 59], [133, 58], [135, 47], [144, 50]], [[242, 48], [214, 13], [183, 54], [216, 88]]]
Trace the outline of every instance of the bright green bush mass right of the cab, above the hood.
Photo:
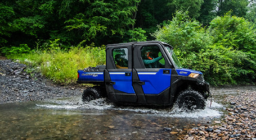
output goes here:
[[255, 33], [250, 22], [230, 13], [214, 18], [205, 29], [187, 12], [177, 12], [154, 36], [174, 46], [185, 68], [203, 72], [213, 85], [230, 85], [256, 80]]

